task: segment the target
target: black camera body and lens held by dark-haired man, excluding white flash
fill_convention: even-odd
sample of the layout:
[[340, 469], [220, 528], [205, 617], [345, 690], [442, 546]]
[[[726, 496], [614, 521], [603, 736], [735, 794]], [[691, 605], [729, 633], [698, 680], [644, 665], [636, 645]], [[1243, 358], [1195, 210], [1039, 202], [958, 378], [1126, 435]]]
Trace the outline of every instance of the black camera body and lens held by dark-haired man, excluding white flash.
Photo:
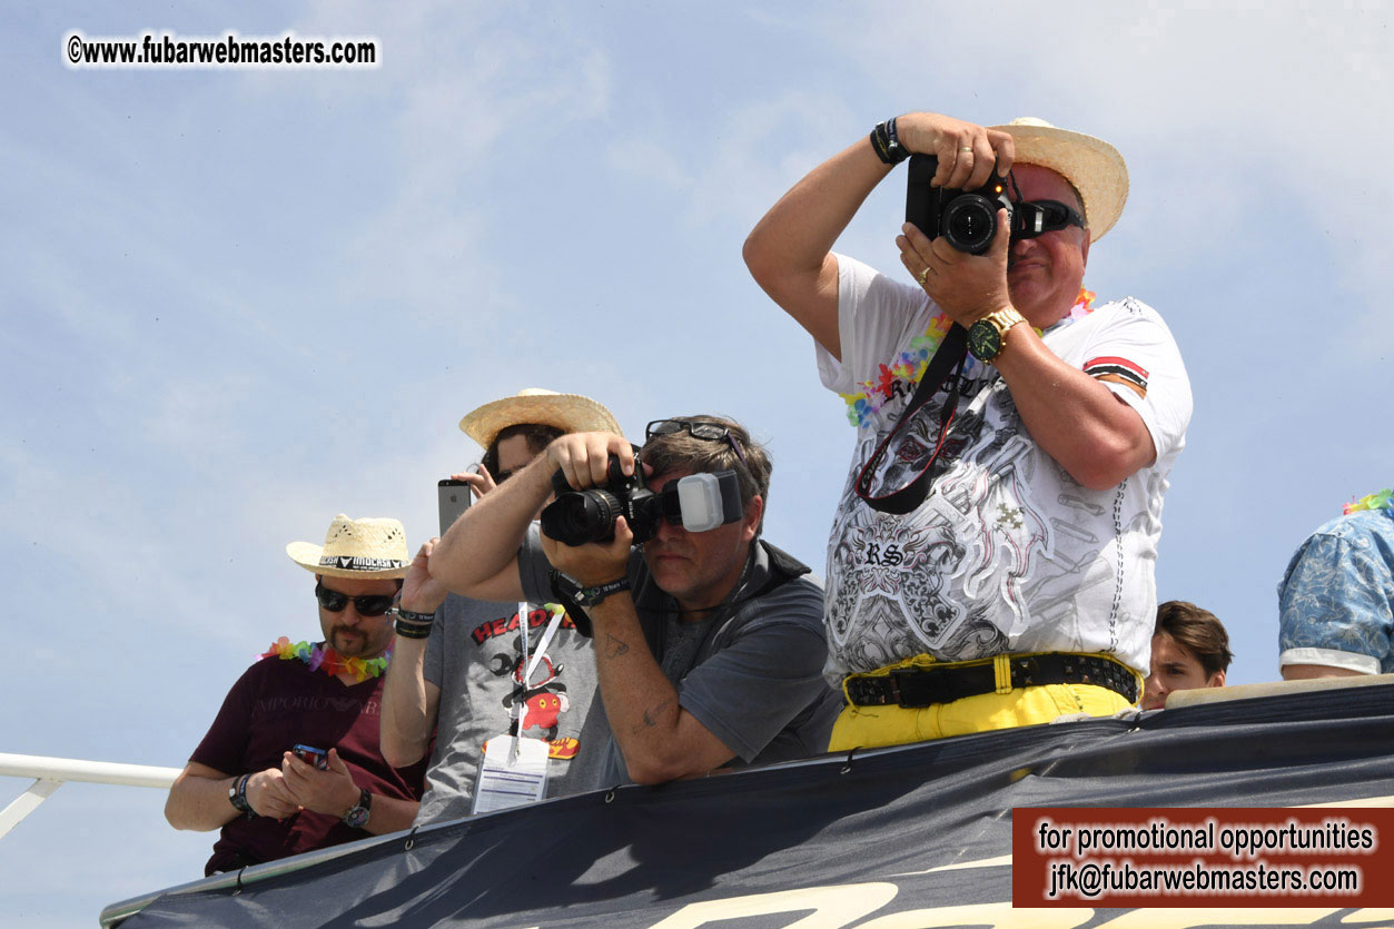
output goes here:
[[644, 467], [634, 449], [634, 473], [626, 476], [619, 458], [611, 455], [605, 487], [572, 490], [560, 469], [552, 474], [556, 499], [542, 511], [542, 531], [549, 538], [567, 545], [615, 541], [615, 519], [625, 518], [634, 533], [634, 544], [643, 544], [658, 533], [664, 518], [659, 495], [644, 487]]

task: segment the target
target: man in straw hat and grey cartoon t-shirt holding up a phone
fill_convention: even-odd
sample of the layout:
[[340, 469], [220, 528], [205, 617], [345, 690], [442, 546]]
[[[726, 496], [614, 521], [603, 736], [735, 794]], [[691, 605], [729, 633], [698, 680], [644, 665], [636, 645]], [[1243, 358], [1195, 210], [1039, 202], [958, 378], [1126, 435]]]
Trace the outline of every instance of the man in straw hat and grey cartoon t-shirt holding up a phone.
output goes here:
[[[466, 414], [460, 428], [485, 452], [478, 474], [454, 477], [481, 495], [506, 484], [560, 435], [620, 431], [604, 405], [539, 388], [485, 403]], [[555, 604], [447, 596], [429, 575], [436, 541], [421, 547], [401, 591], [397, 654], [382, 711], [388, 759], [410, 764], [431, 750], [417, 822], [492, 809], [493, 795], [477, 790], [480, 763], [485, 743], [505, 734], [545, 742], [545, 796], [585, 790], [579, 771], [588, 763], [581, 730], [595, 693], [590, 644]]]

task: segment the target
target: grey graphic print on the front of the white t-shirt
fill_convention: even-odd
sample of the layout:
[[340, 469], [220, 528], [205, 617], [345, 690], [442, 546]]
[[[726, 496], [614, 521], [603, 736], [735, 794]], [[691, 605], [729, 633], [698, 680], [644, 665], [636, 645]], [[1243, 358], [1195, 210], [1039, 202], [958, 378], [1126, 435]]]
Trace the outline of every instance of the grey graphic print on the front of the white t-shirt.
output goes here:
[[[938, 406], [930, 402], [902, 430], [873, 492], [903, 487], [924, 466]], [[1046, 629], [1054, 640], [1078, 629], [1082, 587], [1115, 583], [1111, 572], [1086, 576], [1108, 540], [1071, 519], [1073, 509], [1097, 504], [1071, 492], [1037, 499], [1041, 487], [1079, 485], [1039, 453], [1001, 379], [960, 400], [933, 469], [933, 492], [914, 513], [882, 515], [856, 497], [857, 469], [881, 438], [864, 434], [831, 534], [829, 647], [842, 667], [873, 671], [926, 653], [962, 661], [1025, 651]], [[1055, 470], [1052, 480], [1039, 480], [1041, 467]]]

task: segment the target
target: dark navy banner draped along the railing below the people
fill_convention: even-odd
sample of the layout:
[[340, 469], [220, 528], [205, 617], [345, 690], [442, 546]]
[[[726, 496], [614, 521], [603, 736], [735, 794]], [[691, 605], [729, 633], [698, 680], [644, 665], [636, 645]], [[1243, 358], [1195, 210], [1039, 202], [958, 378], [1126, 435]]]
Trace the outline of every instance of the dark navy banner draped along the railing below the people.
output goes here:
[[[1391, 795], [1394, 685], [1291, 693], [572, 796], [420, 830], [410, 848], [399, 836], [255, 883], [252, 869], [240, 890], [184, 889], [123, 925], [1032, 925], [942, 909], [1011, 901], [1012, 808]], [[1125, 911], [1080, 912], [1064, 925]]]

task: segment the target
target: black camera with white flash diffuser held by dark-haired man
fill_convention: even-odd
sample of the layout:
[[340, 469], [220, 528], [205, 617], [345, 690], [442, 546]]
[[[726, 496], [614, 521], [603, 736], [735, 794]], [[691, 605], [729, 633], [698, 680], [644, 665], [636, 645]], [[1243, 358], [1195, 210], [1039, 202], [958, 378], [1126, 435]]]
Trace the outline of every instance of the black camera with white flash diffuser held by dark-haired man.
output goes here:
[[655, 492], [644, 485], [644, 469], [634, 452], [634, 473], [626, 476], [611, 455], [605, 487], [572, 490], [566, 474], [552, 474], [556, 499], [542, 511], [542, 531], [567, 545], [615, 540], [615, 519], [625, 518], [640, 545], [658, 533], [666, 519], [690, 533], [703, 533], [744, 516], [736, 471], [689, 474]]

